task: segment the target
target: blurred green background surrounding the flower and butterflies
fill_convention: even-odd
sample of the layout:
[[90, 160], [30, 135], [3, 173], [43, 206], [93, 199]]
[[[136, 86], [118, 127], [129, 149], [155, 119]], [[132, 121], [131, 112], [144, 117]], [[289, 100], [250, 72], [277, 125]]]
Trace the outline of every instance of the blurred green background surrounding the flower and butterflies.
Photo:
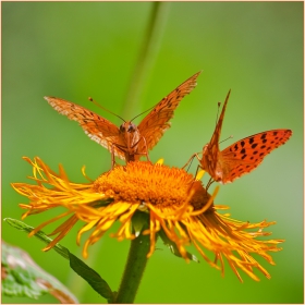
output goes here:
[[[17, 205], [27, 200], [10, 183], [26, 182], [32, 173], [22, 156], [39, 156], [54, 170], [62, 163], [75, 182], [85, 181], [81, 173], [84, 164], [93, 179], [109, 169], [109, 151], [90, 141], [77, 123], [58, 114], [42, 97], [71, 100], [121, 124], [87, 97], [123, 115], [152, 3], [1, 5], [2, 219], [20, 219]], [[222, 138], [234, 138], [222, 148], [272, 129], [291, 129], [293, 136], [257, 170], [221, 186], [216, 204], [229, 205], [234, 219], [277, 221], [266, 231], [285, 243], [282, 252], [272, 255], [276, 266], [258, 258], [271, 280], [257, 273], [261, 280], [255, 282], [241, 272], [244, 283], [240, 283], [228, 265], [222, 278], [204, 259], [186, 264], [159, 241], [136, 302], [303, 303], [303, 2], [171, 2], [164, 26], [152, 71], [144, 80], [144, 93], [131, 115], [157, 103], [197, 71], [204, 72], [195, 90], [176, 109], [172, 127], [150, 152], [151, 160], [163, 157], [167, 164], [182, 167], [193, 152], [202, 150], [215, 127], [217, 102], [223, 101], [231, 88]], [[33, 216], [25, 222], [37, 225], [54, 215]], [[75, 244], [77, 229], [80, 225], [61, 244], [81, 257]], [[52, 251], [42, 253], [44, 245], [36, 239], [28, 240], [5, 222], [2, 237], [27, 251], [81, 302], [105, 302], [70, 270], [66, 260]], [[86, 263], [117, 290], [127, 249], [127, 241], [119, 243], [107, 234], [90, 248]], [[4, 297], [2, 302], [29, 301]], [[44, 296], [37, 302], [57, 301]]]

